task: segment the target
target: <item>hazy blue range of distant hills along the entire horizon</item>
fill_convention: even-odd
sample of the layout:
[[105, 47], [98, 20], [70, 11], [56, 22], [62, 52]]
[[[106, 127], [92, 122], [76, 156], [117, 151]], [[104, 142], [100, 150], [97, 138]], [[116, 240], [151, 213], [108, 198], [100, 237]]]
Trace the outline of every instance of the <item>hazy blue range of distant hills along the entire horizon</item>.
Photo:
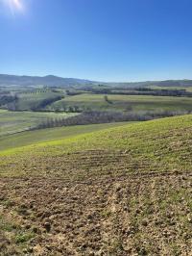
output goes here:
[[84, 87], [94, 85], [105, 85], [111, 87], [189, 87], [192, 86], [192, 80], [166, 80], [166, 81], [146, 81], [146, 82], [130, 82], [130, 83], [102, 83], [76, 78], [62, 78], [54, 75], [48, 76], [16, 76], [0, 74], [0, 86], [47, 86], [47, 87], [63, 87], [72, 86]]

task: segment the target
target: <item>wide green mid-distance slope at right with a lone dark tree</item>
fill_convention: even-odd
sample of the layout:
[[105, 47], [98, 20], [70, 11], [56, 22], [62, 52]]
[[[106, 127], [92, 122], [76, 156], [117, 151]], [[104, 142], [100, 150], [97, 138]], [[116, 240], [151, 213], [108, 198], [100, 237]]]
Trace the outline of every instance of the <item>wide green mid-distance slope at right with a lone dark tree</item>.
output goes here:
[[104, 94], [84, 93], [75, 96], [65, 97], [54, 103], [57, 106], [80, 106], [93, 110], [126, 110], [132, 106], [135, 111], [184, 111], [191, 110], [192, 98], [170, 97], [170, 96], [143, 96], [143, 95], [108, 95], [108, 104]]

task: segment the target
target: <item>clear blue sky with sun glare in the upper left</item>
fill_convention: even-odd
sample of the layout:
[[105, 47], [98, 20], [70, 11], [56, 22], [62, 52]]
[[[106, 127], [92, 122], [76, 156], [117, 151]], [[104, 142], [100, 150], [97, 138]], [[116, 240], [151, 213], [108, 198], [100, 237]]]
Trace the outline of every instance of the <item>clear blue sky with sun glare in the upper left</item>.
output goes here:
[[0, 0], [0, 73], [192, 79], [191, 11], [191, 0]]

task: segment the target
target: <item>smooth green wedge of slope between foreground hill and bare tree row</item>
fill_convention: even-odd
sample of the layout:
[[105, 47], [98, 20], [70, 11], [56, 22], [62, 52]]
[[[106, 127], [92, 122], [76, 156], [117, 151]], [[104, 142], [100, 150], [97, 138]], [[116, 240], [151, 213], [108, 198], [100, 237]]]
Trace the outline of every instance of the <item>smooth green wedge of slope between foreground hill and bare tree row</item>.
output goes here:
[[24, 145], [36, 144], [42, 141], [61, 140], [68, 137], [73, 137], [75, 135], [86, 134], [126, 124], [128, 124], [128, 122], [79, 125], [70, 127], [49, 128], [36, 131], [27, 131], [9, 136], [2, 136], [0, 137], [0, 151]]

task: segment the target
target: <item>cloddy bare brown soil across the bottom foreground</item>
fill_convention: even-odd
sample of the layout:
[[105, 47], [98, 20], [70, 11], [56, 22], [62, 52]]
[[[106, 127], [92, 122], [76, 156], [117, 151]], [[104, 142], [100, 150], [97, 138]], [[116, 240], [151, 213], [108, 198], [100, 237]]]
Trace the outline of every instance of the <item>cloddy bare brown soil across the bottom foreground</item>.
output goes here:
[[190, 256], [191, 198], [191, 172], [1, 178], [0, 255]]

